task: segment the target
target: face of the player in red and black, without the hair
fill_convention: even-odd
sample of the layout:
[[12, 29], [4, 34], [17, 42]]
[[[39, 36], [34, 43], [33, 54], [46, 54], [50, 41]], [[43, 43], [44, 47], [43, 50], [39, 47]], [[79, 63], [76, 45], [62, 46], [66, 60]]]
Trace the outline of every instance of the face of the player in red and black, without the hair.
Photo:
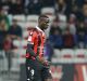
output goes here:
[[41, 29], [47, 29], [49, 26], [49, 18], [48, 17], [41, 17], [39, 19], [39, 25]]

